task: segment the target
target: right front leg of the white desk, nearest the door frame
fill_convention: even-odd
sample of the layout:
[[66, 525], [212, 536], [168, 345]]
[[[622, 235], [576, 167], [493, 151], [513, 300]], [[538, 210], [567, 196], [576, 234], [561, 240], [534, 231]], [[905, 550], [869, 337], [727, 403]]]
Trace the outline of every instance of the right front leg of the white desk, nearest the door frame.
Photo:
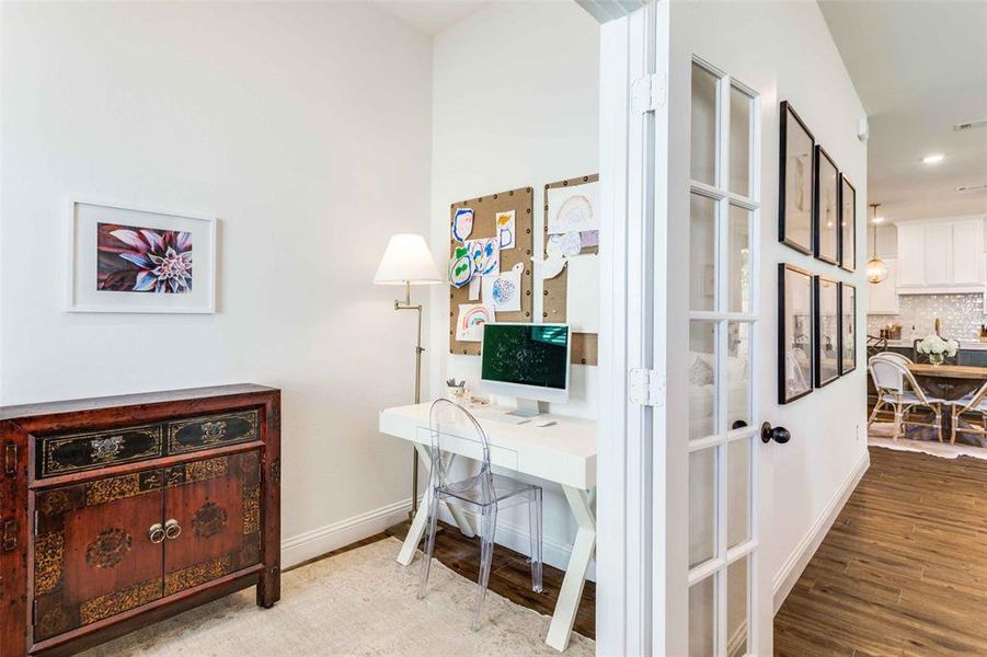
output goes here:
[[569, 635], [576, 620], [579, 599], [583, 597], [586, 570], [596, 549], [596, 519], [589, 506], [589, 493], [572, 486], [562, 486], [562, 492], [565, 493], [569, 508], [576, 518], [578, 530], [569, 557], [569, 567], [565, 568], [562, 590], [559, 591], [555, 612], [552, 614], [549, 635], [546, 638], [548, 645], [560, 652], [569, 646]]

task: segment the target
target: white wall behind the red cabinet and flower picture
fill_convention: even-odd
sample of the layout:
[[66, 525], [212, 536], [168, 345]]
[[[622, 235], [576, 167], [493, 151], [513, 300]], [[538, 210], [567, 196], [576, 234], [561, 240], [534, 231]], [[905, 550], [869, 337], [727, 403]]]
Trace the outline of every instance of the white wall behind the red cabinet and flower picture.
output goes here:
[[[399, 520], [414, 319], [370, 280], [428, 231], [431, 39], [344, 3], [4, 3], [0, 35], [0, 403], [280, 387], [286, 565]], [[218, 216], [218, 313], [66, 313], [71, 195]]]

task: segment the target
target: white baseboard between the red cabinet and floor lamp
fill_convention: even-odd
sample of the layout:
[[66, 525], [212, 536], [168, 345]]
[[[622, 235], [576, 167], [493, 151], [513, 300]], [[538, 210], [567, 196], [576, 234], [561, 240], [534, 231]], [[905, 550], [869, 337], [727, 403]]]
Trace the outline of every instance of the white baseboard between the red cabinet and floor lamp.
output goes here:
[[283, 540], [282, 568], [290, 568], [398, 525], [408, 518], [410, 504], [408, 499], [402, 499]]

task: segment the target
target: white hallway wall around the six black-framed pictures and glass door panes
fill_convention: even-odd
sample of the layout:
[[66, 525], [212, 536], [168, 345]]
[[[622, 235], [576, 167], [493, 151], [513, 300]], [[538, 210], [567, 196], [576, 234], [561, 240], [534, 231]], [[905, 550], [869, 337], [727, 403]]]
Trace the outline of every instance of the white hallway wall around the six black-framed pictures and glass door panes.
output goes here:
[[[857, 122], [865, 115], [829, 31], [814, 2], [679, 2], [672, 5], [673, 73], [670, 97], [689, 97], [689, 58], [692, 54], [719, 66], [761, 97], [761, 322], [756, 332], [757, 422], [788, 427], [785, 446], [761, 447], [761, 459], [772, 465], [773, 479], [765, 482], [769, 517], [764, 519], [761, 544], [766, 564], [780, 586], [796, 567], [813, 532], [839, 502], [848, 482], [867, 458], [865, 371], [863, 335], [867, 326], [867, 281], [862, 265], [867, 228], [867, 146], [857, 139]], [[779, 103], [790, 101], [816, 141], [847, 173], [857, 194], [856, 274], [802, 255], [778, 242]], [[689, 108], [673, 106], [669, 217], [672, 244], [688, 243]], [[686, 362], [688, 281], [674, 280], [687, 270], [687, 249], [673, 249], [669, 260], [670, 308], [669, 372], [688, 371]], [[858, 289], [858, 368], [807, 397], [781, 406], [777, 403], [777, 263], [787, 262], [814, 273], [852, 281]], [[685, 380], [669, 381], [669, 430], [681, 431], [687, 405]]]

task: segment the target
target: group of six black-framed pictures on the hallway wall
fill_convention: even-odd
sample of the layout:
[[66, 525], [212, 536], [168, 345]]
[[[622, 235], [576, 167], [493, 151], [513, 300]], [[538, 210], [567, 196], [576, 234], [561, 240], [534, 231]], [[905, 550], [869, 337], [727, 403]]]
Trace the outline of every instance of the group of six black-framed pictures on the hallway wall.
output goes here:
[[857, 188], [794, 107], [780, 107], [778, 240], [831, 265], [778, 264], [778, 403], [789, 404], [857, 369]]

